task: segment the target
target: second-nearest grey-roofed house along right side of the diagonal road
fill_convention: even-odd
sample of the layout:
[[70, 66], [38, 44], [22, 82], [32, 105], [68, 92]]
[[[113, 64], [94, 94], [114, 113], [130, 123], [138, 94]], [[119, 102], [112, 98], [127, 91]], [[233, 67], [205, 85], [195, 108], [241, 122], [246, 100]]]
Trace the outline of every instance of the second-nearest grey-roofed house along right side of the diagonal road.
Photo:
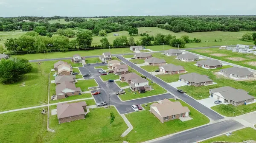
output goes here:
[[203, 85], [212, 84], [212, 79], [209, 76], [200, 75], [198, 73], [188, 73], [180, 75], [180, 81], [185, 82], [187, 85], [194, 85], [195, 87], [200, 87]]

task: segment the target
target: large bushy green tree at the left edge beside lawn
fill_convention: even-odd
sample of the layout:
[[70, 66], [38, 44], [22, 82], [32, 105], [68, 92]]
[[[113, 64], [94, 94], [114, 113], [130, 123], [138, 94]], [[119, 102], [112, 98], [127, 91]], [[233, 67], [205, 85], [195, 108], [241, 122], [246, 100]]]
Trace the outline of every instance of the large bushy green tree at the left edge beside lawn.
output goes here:
[[0, 61], [0, 82], [11, 84], [19, 81], [24, 74], [32, 70], [32, 64], [27, 59], [11, 58]]

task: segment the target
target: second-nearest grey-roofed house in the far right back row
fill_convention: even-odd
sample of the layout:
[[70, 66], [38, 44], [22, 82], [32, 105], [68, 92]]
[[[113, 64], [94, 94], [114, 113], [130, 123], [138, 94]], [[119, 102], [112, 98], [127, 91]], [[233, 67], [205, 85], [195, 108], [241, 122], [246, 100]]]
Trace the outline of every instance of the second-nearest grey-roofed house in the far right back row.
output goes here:
[[198, 67], [205, 67], [208, 69], [222, 67], [221, 62], [219, 62], [218, 60], [210, 60], [210, 59], [198, 61], [196, 62], [196, 64]]

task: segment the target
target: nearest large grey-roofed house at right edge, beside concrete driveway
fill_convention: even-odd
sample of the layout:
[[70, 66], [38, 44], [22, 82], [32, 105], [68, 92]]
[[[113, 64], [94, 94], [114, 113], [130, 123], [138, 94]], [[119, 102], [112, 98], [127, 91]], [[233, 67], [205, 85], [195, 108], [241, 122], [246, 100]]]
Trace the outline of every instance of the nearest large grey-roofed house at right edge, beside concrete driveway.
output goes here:
[[234, 106], [243, 105], [244, 103], [250, 103], [254, 101], [253, 96], [248, 92], [235, 89], [232, 87], [220, 87], [210, 89], [209, 93], [212, 98], [222, 101], [223, 103], [232, 104]]

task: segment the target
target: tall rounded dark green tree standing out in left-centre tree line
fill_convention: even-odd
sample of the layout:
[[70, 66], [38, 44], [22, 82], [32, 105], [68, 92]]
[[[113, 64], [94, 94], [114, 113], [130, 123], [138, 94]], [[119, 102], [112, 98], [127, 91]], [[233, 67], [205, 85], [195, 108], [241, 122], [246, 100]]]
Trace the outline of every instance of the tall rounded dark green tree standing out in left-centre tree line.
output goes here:
[[93, 41], [93, 33], [90, 31], [82, 31], [77, 34], [76, 40], [79, 48], [90, 48]]

